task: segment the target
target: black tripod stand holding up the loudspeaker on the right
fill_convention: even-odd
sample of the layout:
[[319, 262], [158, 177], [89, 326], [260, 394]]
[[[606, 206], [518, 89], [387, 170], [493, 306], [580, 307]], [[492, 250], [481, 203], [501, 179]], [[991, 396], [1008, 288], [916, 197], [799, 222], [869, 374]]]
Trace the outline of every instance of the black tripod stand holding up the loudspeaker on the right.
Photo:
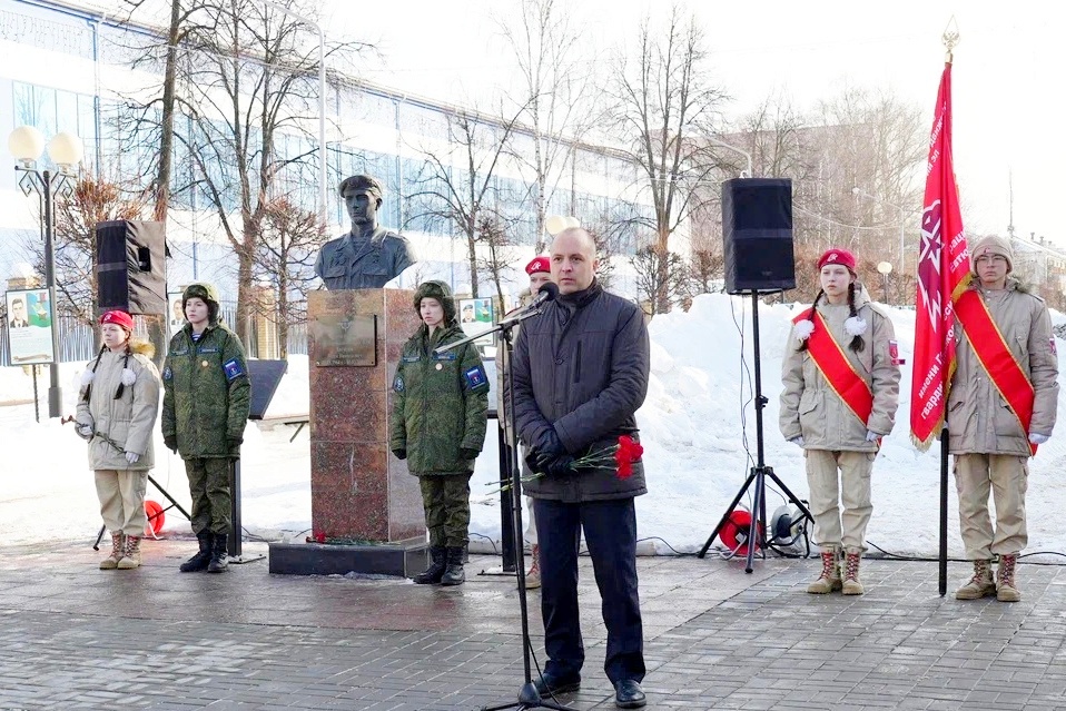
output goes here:
[[737, 504], [740, 503], [740, 500], [743, 498], [744, 494], [748, 492], [748, 488], [754, 487], [751, 494], [751, 524], [748, 529], [748, 560], [747, 565], [744, 566], [744, 572], [750, 573], [753, 570], [753, 561], [756, 555], [756, 549], [762, 551], [762, 557], [766, 557], [766, 550], [769, 547], [770, 543], [767, 540], [767, 492], [766, 492], [766, 480], [770, 477], [778, 488], [788, 497], [788, 500], [799, 508], [803, 517], [813, 522], [813, 517], [810, 515], [810, 511], [807, 510], [807, 506], [797, 498], [788, 486], [784, 485], [778, 475], [773, 473], [773, 468], [767, 466], [764, 460], [764, 445], [762, 441], [762, 408], [766, 407], [766, 404], [769, 402], [762, 395], [762, 367], [761, 367], [761, 356], [759, 350], [759, 293], [751, 292], [751, 330], [752, 330], [752, 347], [754, 349], [754, 362], [756, 362], [756, 465], [751, 467], [751, 471], [748, 474], [744, 485], [740, 487], [740, 491], [737, 493], [737, 496], [733, 498], [733, 502], [726, 510], [726, 514], [722, 516], [722, 520], [718, 522], [718, 525], [714, 526], [714, 530], [711, 532], [711, 535], [707, 539], [707, 543], [703, 544], [703, 547], [700, 549], [699, 557], [707, 555], [708, 549], [711, 547], [711, 543], [718, 537], [718, 534], [721, 533], [722, 527], [729, 522], [729, 517], [732, 515], [733, 510], [737, 508]]

